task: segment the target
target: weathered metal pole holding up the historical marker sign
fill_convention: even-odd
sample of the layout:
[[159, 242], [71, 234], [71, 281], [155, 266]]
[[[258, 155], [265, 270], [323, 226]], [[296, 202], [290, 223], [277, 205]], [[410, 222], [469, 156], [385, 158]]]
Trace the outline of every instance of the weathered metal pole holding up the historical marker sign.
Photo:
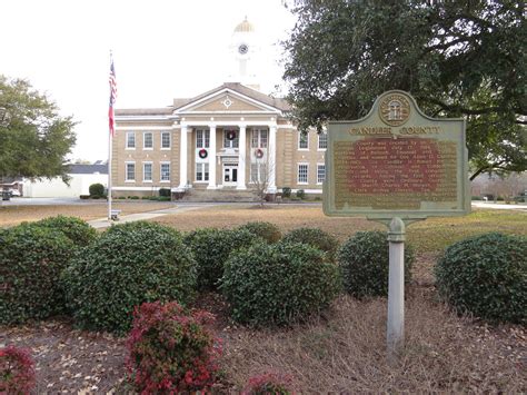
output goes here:
[[405, 345], [405, 223], [395, 217], [388, 230], [388, 359], [395, 361]]

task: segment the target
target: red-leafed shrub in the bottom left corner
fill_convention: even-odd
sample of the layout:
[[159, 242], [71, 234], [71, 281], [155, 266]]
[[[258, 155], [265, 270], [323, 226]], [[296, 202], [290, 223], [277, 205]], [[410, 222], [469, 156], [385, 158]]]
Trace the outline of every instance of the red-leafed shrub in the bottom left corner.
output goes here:
[[0, 348], [0, 394], [29, 394], [34, 386], [34, 367], [26, 349]]

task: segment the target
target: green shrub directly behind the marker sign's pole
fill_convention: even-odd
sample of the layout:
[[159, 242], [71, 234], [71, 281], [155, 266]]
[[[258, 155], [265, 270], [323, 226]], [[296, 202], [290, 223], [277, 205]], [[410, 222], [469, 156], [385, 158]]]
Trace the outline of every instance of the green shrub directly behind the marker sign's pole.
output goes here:
[[[344, 287], [350, 295], [362, 298], [388, 295], [388, 240], [385, 231], [358, 231], [337, 251]], [[411, 279], [414, 250], [405, 245], [405, 283]]]

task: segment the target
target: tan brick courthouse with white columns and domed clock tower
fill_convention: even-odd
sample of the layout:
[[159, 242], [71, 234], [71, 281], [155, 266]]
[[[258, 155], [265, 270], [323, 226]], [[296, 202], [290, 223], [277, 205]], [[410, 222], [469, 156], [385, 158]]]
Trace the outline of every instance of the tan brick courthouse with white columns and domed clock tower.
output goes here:
[[262, 185], [270, 195], [284, 187], [321, 194], [327, 137], [300, 134], [289, 103], [259, 91], [258, 50], [246, 19], [232, 34], [229, 82], [163, 108], [116, 110], [115, 196]]

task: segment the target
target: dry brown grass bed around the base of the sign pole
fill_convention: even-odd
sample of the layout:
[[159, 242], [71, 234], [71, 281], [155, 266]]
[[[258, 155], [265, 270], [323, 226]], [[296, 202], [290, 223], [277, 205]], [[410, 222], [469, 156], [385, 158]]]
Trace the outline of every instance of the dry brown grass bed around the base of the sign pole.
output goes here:
[[410, 292], [395, 365], [386, 358], [386, 299], [342, 296], [326, 318], [292, 329], [225, 329], [228, 378], [241, 388], [252, 375], [282, 372], [301, 393], [525, 393], [524, 329], [459, 318], [429, 290]]

